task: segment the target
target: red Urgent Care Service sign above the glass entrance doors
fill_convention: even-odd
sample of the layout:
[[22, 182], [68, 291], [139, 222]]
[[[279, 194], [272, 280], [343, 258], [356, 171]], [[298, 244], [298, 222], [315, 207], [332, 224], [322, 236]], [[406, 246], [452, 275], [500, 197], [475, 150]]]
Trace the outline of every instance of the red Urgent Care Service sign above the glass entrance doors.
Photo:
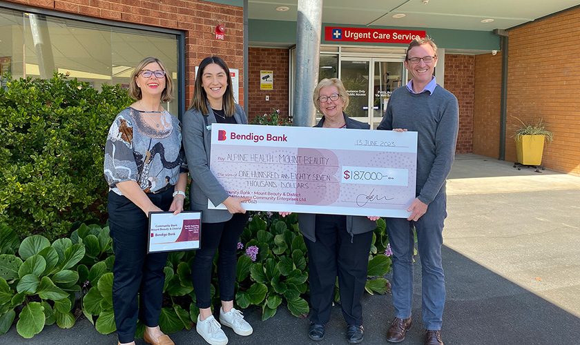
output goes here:
[[325, 27], [327, 41], [407, 44], [416, 37], [425, 37], [425, 31]]

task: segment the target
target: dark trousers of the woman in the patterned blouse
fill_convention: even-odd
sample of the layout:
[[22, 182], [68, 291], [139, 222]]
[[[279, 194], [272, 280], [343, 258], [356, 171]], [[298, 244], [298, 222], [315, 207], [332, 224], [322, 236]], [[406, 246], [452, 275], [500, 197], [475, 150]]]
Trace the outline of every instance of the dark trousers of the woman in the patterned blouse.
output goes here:
[[[169, 188], [147, 196], [155, 206], [168, 210], [172, 194], [173, 188]], [[159, 324], [167, 253], [147, 254], [149, 220], [131, 200], [109, 192], [108, 213], [115, 250], [113, 311], [119, 342], [128, 343], [135, 340], [137, 314], [146, 326]]]

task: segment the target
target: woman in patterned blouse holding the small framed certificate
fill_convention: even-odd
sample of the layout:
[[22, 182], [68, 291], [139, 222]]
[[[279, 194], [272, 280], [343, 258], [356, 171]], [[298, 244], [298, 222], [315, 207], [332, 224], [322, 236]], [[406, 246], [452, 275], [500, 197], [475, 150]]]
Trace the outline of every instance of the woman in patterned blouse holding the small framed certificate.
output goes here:
[[129, 95], [137, 101], [119, 112], [105, 146], [119, 344], [135, 344], [139, 317], [146, 326], [146, 342], [173, 345], [159, 328], [167, 253], [147, 254], [149, 213], [180, 213], [187, 184], [180, 121], [161, 106], [173, 98], [167, 73], [155, 57], [137, 64], [129, 81]]

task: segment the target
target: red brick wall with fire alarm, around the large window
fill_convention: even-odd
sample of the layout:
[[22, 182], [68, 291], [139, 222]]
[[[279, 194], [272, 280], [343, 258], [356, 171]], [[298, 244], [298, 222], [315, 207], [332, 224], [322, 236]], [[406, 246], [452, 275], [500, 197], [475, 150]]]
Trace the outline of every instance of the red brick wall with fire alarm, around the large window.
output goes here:
[[[195, 66], [219, 55], [229, 68], [240, 70], [240, 103], [244, 99], [244, 9], [199, 0], [10, 0], [86, 17], [183, 30], [185, 34], [186, 105], [193, 94]], [[215, 27], [226, 28], [215, 39]]]

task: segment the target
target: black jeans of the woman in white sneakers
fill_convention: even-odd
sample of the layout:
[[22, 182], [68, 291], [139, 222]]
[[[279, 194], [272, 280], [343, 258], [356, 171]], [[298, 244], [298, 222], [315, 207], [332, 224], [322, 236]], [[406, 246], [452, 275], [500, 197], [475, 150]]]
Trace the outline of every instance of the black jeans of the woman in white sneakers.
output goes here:
[[201, 248], [195, 253], [191, 268], [191, 282], [195, 290], [195, 305], [198, 308], [211, 306], [211, 272], [213, 257], [219, 249], [218, 279], [220, 299], [233, 301], [235, 288], [235, 269], [238, 259], [238, 241], [248, 221], [247, 213], [235, 213], [229, 221], [221, 223], [203, 223]]

